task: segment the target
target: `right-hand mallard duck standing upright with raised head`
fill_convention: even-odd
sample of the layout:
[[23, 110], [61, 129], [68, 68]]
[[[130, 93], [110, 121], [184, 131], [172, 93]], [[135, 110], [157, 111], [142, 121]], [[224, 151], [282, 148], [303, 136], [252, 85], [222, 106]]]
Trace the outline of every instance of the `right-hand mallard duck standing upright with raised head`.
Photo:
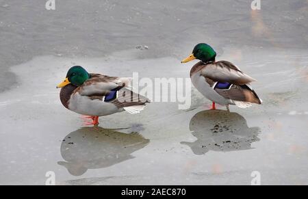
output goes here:
[[190, 70], [190, 78], [194, 87], [212, 101], [211, 109], [216, 103], [237, 105], [241, 108], [251, 107], [253, 103], [261, 104], [261, 99], [249, 83], [256, 81], [231, 62], [216, 62], [216, 52], [209, 44], [197, 44], [192, 54], [181, 63], [199, 59]]

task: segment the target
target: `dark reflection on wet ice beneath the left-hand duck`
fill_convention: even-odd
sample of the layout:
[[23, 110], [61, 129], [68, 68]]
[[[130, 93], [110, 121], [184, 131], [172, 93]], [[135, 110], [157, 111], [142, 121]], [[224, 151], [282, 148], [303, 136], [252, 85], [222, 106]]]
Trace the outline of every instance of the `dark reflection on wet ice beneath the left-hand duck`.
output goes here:
[[106, 168], [132, 159], [131, 153], [149, 144], [138, 133], [120, 133], [101, 127], [84, 127], [66, 135], [61, 145], [59, 161], [73, 176], [88, 169]]

